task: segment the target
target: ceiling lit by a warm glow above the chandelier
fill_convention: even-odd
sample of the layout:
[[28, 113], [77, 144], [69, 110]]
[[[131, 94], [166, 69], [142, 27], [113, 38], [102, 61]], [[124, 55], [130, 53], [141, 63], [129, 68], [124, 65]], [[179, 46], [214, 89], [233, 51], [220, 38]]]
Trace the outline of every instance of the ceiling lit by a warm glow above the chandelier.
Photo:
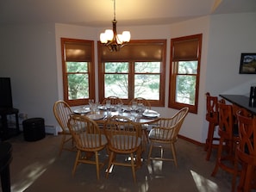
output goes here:
[[[105, 27], [113, 0], [0, 0], [0, 25], [66, 23]], [[256, 12], [256, 0], [116, 0], [118, 25], [159, 25], [202, 15]]]

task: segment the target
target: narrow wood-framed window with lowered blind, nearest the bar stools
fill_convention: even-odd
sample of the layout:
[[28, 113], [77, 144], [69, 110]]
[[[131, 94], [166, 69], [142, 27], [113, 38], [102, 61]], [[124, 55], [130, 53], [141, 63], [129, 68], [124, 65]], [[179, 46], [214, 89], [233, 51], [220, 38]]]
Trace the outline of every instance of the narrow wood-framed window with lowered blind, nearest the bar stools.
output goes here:
[[171, 40], [169, 108], [197, 114], [202, 34]]

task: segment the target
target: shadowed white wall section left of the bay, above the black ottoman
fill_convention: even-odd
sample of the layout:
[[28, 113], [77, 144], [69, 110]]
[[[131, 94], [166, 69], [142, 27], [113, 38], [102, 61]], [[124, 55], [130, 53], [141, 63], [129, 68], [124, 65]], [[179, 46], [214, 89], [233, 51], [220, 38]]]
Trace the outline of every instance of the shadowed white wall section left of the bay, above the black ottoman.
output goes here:
[[0, 26], [0, 76], [11, 77], [13, 105], [53, 125], [57, 96], [54, 24]]

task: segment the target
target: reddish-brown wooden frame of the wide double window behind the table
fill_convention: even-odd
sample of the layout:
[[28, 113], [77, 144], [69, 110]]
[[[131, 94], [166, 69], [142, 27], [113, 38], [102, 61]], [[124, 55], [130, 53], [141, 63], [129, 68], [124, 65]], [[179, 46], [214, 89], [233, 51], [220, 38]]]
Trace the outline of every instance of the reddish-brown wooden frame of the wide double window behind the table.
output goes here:
[[[131, 40], [127, 46], [130, 44], [133, 44], [134, 46], [138, 45], [140, 46], [141, 44], [148, 46], [147, 48], [151, 48], [150, 46], [158, 46], [161, 45], [161, 61], [160, 61], [160, 86], [159, 86], [159, 100], [149, 100], [151, 102], [151, 105], [154, 107], [164, 107], [165, 106], [165, 67], [166, 67], [166, 40]], [[129, 81], [129, 87], [128, 87], [128, 99], [122, 99], [124, 104], [128, 104], [130, 100], [134, 98], [134, 75], [138, 74], [134, 72], [134, 64], [135, 62], [153, 62], [156, 60], [147, 60], [147, 58], [140, 58], [136, 59], [135, 53], [134, 55], [130, 55], [131, 59], [122, 59], [122, 57], [117, 56], [116, 58], [113, 57], [112, 59], [103, 59], [101, 55], [103, 54], [113, 54], [109, 52], [109, 50], [104, 48], [104, 45], [98, 41], [97, 42], [97, 47], [98, 47], [98, 97], [99, 101], [102, 102], [104, 99], [104, 63], [108, 62], [128, 62], [128, 65], [132, 65], [130, 68], [130, 71], [128, 71], [128, 81]], [[122, 51], [122, 50], [121, 50]], [[119, 52], [120, 53], [120, 52]], [[118, 54], [118, 53], [114, 53]], [[141, 73], [143, 74], [143, 73]]]

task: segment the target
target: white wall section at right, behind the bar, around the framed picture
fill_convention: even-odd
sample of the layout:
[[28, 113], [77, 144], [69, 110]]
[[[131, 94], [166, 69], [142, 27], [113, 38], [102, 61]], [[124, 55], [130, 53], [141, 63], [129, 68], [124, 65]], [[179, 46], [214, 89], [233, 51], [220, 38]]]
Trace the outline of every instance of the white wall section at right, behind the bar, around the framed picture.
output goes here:
[[[212, 15], [205, 91], [212, 95], [249, 95], [256, 74], [239, 74], [240, 53], [256, 53], [256, 13]], [[203, 94], [203, 92], [201, 93]], [[203, 124], [203, 138], [208, 123]]]

